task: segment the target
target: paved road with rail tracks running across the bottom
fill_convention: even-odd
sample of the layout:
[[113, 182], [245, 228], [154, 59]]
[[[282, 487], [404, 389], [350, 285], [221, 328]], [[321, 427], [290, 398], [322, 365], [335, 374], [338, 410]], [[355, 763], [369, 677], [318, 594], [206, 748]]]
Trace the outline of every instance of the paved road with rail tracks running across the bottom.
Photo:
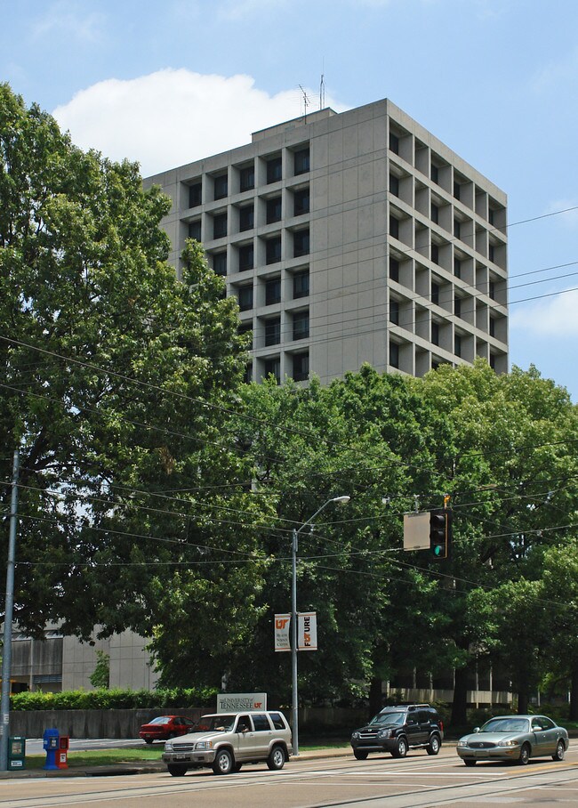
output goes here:
[[566, 760], [527, 766], [478, 764], [466, 768], [454, 747], [437, 757], [410, 753], [356, 761], [352, 755], [293, 759], [281, 772], [262, 764], [217, 777], [210, 770], [171, 777], [166, 772], [114, 777], [26, 778], [0, 784], [0, 808], [434, 808], [477, 804], [578, 804], [578, 747]]

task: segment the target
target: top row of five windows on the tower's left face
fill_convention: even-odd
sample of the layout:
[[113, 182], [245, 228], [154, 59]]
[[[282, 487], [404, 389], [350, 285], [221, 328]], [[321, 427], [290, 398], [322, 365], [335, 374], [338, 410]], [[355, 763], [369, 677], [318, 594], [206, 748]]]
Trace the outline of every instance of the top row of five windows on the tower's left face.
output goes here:
[[[309, 146], [297, 149], [292, 152], [293, 166], [285, 167], [285, 174], [300, 176], [309, 172]], [[280, 182], [284, 176], [283, 157], [280, 154], [262, 158], [264, 166], [262, 182], [260, 184], [271, 185]], [[254, 161], [237, 169], [238, 191], [253, 190], [255, 188], [255, 165]], [[204, 186], [205, 183], [205, 186]], [[218, 174], [206, 174], [188, 183], [189, 207], [198, 207], [203, 202], [213, 202], [225, 199], [230, 193], [229, 171], [225, 170]], [[205, 193], [204, 193], [205, 190]], [[237, 188], [233, 190], [237, 192]]]

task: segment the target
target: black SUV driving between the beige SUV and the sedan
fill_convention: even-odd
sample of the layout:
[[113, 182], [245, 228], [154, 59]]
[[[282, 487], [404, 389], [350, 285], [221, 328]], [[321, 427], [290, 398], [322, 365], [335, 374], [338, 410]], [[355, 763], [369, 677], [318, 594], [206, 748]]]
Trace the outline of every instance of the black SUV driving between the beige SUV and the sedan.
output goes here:
[[357, 760], [370, 752], [390, 752], [405, 757], [408, 749], [425, 749], [438, 755], [444, 739], [444, 723], [429, 704], [402, 704], [384, 707], [372, 720], [351, 735], [351, 747]]

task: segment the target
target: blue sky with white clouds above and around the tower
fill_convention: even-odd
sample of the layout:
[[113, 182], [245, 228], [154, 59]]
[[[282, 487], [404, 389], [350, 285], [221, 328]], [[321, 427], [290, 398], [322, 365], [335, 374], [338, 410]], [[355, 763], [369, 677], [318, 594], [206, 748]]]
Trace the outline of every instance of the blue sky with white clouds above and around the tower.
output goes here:
[[0, 80], [143, 175], [389, 98], [509, 196], [510, 362], [578, 402], [574, 0], [0, 0]]

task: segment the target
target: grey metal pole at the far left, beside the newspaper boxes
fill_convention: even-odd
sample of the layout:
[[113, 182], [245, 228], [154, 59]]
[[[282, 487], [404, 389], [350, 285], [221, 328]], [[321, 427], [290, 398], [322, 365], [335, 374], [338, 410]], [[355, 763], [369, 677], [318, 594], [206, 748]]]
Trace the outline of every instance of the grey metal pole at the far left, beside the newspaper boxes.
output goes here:
[[18, 471], [20, 454], [14, 450], [12, 463], [12, 503], [10, 536], [6, 564], [6, 607], [4, 609], [4, 647], [2, 650], [2, 699], [0, 700], [0, 772], [8, 771], [8, 736], [10, 733], [10, 674], [12, 667], [12, 611], [14, 606], [14, 564], [16, 557], [16, 524], [18, 521]]

